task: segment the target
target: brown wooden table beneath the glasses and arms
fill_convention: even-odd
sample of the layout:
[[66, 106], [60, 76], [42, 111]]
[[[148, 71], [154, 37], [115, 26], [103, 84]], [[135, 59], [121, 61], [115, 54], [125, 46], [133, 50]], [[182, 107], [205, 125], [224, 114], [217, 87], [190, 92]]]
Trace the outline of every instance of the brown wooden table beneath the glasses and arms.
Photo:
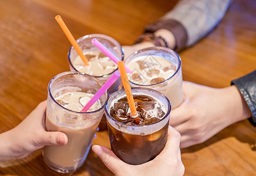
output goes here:
[[[49, 80], [69, 70], [70, 43], [55, 21], [61, 15], [77, 39], [89, 33], [132, 45], [143, 26], [156, 21], [177, 1], [0, 1], [0, 133], [18, 125], [45, 100]], [[234, 0], [221, 23], [206, 38], [180, 53], [184, 80], [211, 87], [256, 67], [256, 4]], [[223, 117], [225, 118], [225, 117]], [[185, 175], [255, 175], [256, 128], [235, 123], [203, 144], [181, 150]], [[109, 147], [106, 131], [93, 144]], [[0, 163], [1, 175], [62, 175], [42, 160], [42, 150], [22, 160]], [[93, 151], [73, 175], [112, 175]]]

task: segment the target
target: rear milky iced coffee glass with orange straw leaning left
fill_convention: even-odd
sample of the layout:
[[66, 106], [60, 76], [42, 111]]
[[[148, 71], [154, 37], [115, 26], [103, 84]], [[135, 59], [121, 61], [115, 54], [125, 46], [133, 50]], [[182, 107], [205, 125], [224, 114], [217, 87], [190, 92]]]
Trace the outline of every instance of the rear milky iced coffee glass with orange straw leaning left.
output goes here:
[[[78, 53], [73, 48], [73, 46], [70, 47], [68, 52], [69, 67], [71, 71], [83, 72], [96, 77], [104, 84], [110, 78], [110, 76], [113, 75], [114, 71], [117, 70], [117, 65], [111, 59], [107, 59], [108, 57], [106, 57], [95, 45], [93, 45], [93, 38], [99, 40], [99, 42], [102, 43], [108, 50], [110, 50], [110, 52], [116, 55], [117, 58], [123, 60], [124, 53], [119, 42], [110, 36], [95, 33], [82, 36], [76, 40], [83, 53], [89, 60], [89, 63], [92, 64], [90, 69], [85, 69], [82, 62], [76, 62]], [[97, 62], [90, 62], [91, 59], [95, 59], [93, 55], [96, 55]], [[78, 58], [78, 60], [80, 61], [80, 58]], [[120, 79], [117, 79], [117, 81], [109, 88], [108, 92], [111, 94], [118, 90], [119, 83]]]

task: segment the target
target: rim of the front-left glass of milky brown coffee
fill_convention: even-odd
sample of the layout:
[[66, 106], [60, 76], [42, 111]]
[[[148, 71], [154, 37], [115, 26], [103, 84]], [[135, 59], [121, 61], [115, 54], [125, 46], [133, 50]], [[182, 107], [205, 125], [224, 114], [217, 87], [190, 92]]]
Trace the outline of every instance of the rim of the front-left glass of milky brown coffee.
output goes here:
[[[103, 103], [103, 105], [95, 110], [95, 111], [90, 111], [90, 112], [78, 112], [78, 111], [73, 111], [73, 110], [70, 110], [70, 109], [67, 109], [66, 107], [63, 107], [61, 106], [56, 100], [55, 98], [52, 96], [52, 92], [50, 92], [50, 89], [51, 89], [51, 85], [52, 83], [55, 82], [56, 79], [58, 79], [59, 77], [62, 77], [62, 76], [66, 76], [66, 75], [83, 75], [83, 76], [87, 76], [87, 77], [90, 77], [92, 78], [93, 80], [95, 80], [100, 86], [102, 86], [102, 83], [99, 82], [99, 80], [97, 80], [95, 77], [93, 76], [90, 76], [90, 75], [87, 75], [85, 73], [81, 73], [81, 72], [72, 72], [72, 71], [68, 71], [68, 72], [62, 72], [62, 73], [59, 73], [58, 75], [54, 76], [52, 79], [50, 79], [50, 82], [48, 84], [48, 93], [49, 93], [49, 96], [50, 96], [50, 99], [53, 100], [53, 102], [55, 102], [56, 104], [58, 104], [58, 106], [60, 106], [62, 109], [65, 109], [66, 111], [70, 111], [71, 113], [75, 113], [75, 114], [93, 114], [93, 113], [97, 113], [99, 111], [101, 111], [104, 107], [105, 107], [105, 103]], [[106, 93], [106, 92], [105, 92]], [[108, 97], [108, 93], [106, 95]]]

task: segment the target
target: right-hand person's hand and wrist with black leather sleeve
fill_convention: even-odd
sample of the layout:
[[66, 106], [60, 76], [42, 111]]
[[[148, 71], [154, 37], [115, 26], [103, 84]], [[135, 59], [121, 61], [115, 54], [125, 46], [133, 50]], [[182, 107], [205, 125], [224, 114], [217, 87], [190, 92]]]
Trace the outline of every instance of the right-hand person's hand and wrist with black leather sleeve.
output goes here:
[[183, 82], [185, 99], [171, 111], [170, 118], [171, 126], [181, 134], [181, 148], [203, 143], [237, 121], [251, 116], [255, 120], [256, 71], [249, 76], [248, 96], [254, 104], [250, 108], [237, 86], [215, 89]]

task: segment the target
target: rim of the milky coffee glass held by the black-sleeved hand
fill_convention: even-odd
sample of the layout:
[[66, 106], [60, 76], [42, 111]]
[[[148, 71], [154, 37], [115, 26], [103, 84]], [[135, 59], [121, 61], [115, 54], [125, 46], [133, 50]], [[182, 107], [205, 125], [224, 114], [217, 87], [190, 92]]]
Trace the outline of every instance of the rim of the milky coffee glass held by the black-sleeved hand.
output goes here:
[[[180, 55], [178, 55], [178, 53], [176, 53], [174, 50], [170, 49], [170, 48], [166, 48], [166, 47], [163, 47], [163, 46], [153, 46], [153, 47], [150, 47], [150, 48], [144, 48], [144, 49], [140, 49], [140, 50], [136, 50], [136, 52], [133, 52], [131, 55], [129, 55], [125, 60], [124, 60], [124, 63], [127, 59], [130, 59], [130, 57], [133, 57], [134, 55], [137, 55], [137, 53], [143, 53], [143, 52], [147, 52], [149, 50], [164, 50], [166, 52], [170, 52], [170, 53], [174, 53], [174, 55], [177, 56], [177, 59], [178, 59], [178, 67], [177, 67], [177, 70], [176, 72], [171, 76], [169, 77], [168, 79], [164, 80], [163, 82], [160, 82], [160, 83], [156, 83], [156, 84], [137, 84], [137, 83], [134, 83], [132, 81], [129, 80], [130, 83], [136, 85], [136, 86], [156, 86], [158, 84], [163, 84], [165, 82], [168, 82], [172, 77], [176, 76], [178, 74], [178, 72], [180, 71], [181, 69], [181, 58], [180, 58]], [[126, 63], [125, 63], [126, 64]]]

